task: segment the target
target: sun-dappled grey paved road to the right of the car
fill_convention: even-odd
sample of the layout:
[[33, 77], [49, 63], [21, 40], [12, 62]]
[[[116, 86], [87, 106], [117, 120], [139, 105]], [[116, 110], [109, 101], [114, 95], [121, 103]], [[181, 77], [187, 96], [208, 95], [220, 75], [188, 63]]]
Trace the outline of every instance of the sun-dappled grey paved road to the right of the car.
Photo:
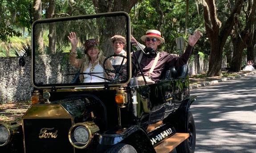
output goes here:
[[256, 75], [191, 90], [195, 153], [256, 153]]

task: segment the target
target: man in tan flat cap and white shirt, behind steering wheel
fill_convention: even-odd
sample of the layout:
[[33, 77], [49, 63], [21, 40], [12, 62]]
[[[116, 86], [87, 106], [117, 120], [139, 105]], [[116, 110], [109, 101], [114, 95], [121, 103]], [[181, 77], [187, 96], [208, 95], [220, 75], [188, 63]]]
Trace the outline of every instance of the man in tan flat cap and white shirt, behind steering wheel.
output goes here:
[[[111, 42], [114, 48], [114, 54], [126, 56], [126, 51], [123, 50], [123, 47], [125, 47], [126, 45], [125, 37], [123, 37], [122, 35], [114, 35], [113, 37], [111, 37]], [[123, 63], [122, 60], [124, 60]], [[110, 61], [113, 65], [120, 65], [121, 63], [126, 63], [126, 59], [120, 56], [113, 56]]]

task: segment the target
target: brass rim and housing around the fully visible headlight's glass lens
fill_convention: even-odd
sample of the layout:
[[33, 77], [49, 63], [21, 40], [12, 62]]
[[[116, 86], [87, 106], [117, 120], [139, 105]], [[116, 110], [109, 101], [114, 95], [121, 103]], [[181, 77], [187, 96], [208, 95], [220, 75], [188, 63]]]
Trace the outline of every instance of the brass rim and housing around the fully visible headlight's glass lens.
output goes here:
[[[83, 146], [77, 146], [73, 143], [72, 139], [71, 139], [71, 134], [73, 134], [73, 129], [77, 126], [82, 126], [85, 127], [86, 129], [88, 129], [88, 133], [89, 133], [89, 140], [87, 141], [87, 143]], [[99, 127], [94, 123], [94, 122], [82, 122], [82, 123], [76, 123], [73, 126], [71, 126], [71, 128], [69, 129], [69, 142], [71, 143], [71, 145], [73, 145], [75, 148], [77, 149], [84, 149], [86, 148], [92, 141], [93, 139], [93, 135], [94, 133], [97, 133], [99, 131]]]

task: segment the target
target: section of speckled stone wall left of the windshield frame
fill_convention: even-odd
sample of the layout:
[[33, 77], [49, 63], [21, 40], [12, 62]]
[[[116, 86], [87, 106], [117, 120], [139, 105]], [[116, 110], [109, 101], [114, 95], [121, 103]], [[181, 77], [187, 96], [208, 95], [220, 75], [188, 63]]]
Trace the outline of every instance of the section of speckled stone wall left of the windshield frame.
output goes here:
[[25, 65], [19, 65], [18, 57], [0, 57], [0, 103], [30, 99], [31, 59], [24, 57]]

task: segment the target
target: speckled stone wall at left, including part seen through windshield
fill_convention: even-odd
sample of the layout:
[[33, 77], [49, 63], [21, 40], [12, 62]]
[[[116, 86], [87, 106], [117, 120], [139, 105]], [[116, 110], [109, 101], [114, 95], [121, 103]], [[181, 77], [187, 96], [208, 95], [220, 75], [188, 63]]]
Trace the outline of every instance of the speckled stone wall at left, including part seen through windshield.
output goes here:
[[[60, 65], [63, 65], [63, 56], [64, 55], [38, 56], [37, 61], [40, 62], [40, 66], [37, 66], [37, 71], [44, 72], [44, 74], [40, 77], [37, 76], [37, 78], [46, 81], [63, 81], [63, 77], [60, 77], [60, 74], [62, 74], [61, 68], [56, 71], [46, 71], [51, 67], [60, 67]], [[31, 58], [24, 57], [24, 59], [25, 65], [22, 67], [19, 65], [19, 57], [0, 57], [0, 103], [30, 100], [31, 90], [33, 90], [31, 81]], [[56, 62], [49, 63], [49, 61]], [[68, 73], [75, 73], [77, 71], [74, 67], [70, 67], [68, 63], [65, 64], [64, 68], [65, 72]], [[68, 78], [69, 82], [70, 78]]]

